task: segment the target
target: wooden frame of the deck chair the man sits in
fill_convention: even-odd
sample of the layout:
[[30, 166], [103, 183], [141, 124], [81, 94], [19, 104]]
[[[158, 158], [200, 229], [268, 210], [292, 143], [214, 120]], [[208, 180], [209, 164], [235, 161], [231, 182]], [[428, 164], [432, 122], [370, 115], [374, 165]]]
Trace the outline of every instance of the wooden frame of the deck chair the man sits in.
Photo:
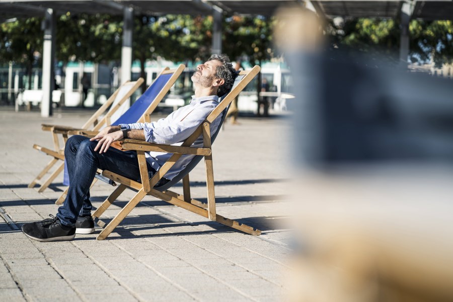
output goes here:
[[[217, 221], [224, 225], [228, 225], [233, 229], [242, 231], [251, 235], [260, 235], [261, 231], [252, 228], [251, 226], [239, 223], [238, 221], [225, 218], [216, 213], [215, 210], [215, 194], [214, 194], [214, 175], [212, 169], [212, 149], [211, 143], [221, 129], [221, 124], [226, 116], [226, 111], [234, 98], [246, 87], [246, 85], [259, 72], [260, 67], [255, 66], [249, 71], [240, 71], [233, 89], [230, 93], [222, 98], [218, 106], [208, 115], [205, 121], [190, 135], [181, 146], [164, 145], [149, 143], [141, 140], [123, 139], [122, 147], [127, 150], [136, 150], [138, 155], [138, 163], [140, 168], [141, 183], [128, 179], [111, 171], [103, 171], [102, 175], [106, 178], [120, 183], [110, 196], [102, 203], [102, 205], [93, 213], [93, 218], [99, 226], [104, 228], [98, 235], [97, 240], [103, 240], [116, 228], [116, 226], [129, 214], [129, 212], [140, 202], [144, 196], [152, 195], [161, 200], [167, 201], [173, 205], [189, 210], [195, 214]], [[210, 124], [222, 114], [221, 122], [216, 132], [210, 137]], [[192, 143], [200, 136], [203, 136], [203, 147], [191, 147]], [[168, 152], [173, 153], [172, 157], [161, 167], [161, 169], [148, 179], [148, 171], [146, 166], [144, 152]], [[182, 155], [195, 155], [189, 164], [170, 182], [160, 187], [154, 187], [158, 181], [170, 170], [176, 161]], [[206, 185], [207, 185], [207, 204], [190, 197], [189, 172], [204, 158], [206, 166]], [[183, 181], [183, 195], [177, 194], [168, 190], [180, 180]], [[138, 191], [135, 196], [121, 209], [121, 211], [106, 224], [99, 217], [104, 211], [118, 198], [118, 196], [127, 188]]]

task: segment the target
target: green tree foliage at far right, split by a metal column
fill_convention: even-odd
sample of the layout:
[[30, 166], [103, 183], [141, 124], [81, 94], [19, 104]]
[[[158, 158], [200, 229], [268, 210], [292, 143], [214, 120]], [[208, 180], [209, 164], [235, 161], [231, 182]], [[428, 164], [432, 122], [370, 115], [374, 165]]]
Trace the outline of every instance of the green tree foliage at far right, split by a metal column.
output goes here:
[[[335, 47], [350, 48], [398, 60], [400, 24], [393, 19], [350, 19], [330, 22], [326, 32]], [[453, 22], [411, 20], [409, 24], [409, 55], [412, 62], [437, 65], [453, 59]]]

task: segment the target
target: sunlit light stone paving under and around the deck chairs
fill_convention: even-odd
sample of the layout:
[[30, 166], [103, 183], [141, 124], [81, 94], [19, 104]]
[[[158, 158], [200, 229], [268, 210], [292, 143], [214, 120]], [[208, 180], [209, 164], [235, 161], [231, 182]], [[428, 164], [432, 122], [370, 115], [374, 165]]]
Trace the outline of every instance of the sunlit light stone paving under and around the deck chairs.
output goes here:
[[[71, 242], [40, 243], [20, 231], [27, 221], [55, 214], [62, 176], [38, 193], [28, 183], [50, 160], [32, 148], [52, 146], [40, 124], [80, 126], [92, 112], [16, 113], [0, 107], [0, 300], [2, 301], [279, 301], [291, 234], [281, 168], [287, 127], [282, 118], [241, 118], [213, 145], [217, 212], [253, 225], [261, 236], [146, 197], [108, 240], [98, 232]], [[190, 174], [192, 196], [206, 200], [204, 165]], [[182, 186], [175, 189], [182, 193]], [[94, 206], [112, 191], [98, 182]], [[125, 192], [112, 218], [134, 192]], [[8, 223], [7, 220], [11, 219]]]

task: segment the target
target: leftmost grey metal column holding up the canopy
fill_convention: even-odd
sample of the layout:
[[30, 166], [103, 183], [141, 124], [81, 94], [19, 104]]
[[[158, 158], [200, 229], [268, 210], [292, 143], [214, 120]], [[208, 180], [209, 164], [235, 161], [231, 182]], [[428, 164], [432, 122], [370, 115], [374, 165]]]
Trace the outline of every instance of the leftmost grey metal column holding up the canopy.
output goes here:
[[55, 25], [55, 14], [52, 9], [47, 9], [43, 21], [44, 46], [42, 51], [42, 117], [49, 117], [52, 115], [52, 91], [55, 86], [53, 70], [55, 58]]

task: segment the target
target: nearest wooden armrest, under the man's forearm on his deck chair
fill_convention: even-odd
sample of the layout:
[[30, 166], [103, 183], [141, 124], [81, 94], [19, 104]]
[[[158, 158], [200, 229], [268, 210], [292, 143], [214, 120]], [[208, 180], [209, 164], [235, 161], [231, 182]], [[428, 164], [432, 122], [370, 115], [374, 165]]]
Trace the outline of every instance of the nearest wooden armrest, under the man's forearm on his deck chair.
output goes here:
[[193, 154], [193, 155], [211, 155], [210, 148], [195, 148], [186, 146], [174, 146], [167, 144], [159, 144], [153, 142], [147, 142], [137, 139], [122, 139], [121, 146], [125, 150], [136, 150], [136, 151], [154, 151], [162, 153], [176, 153], [176, 154]]

